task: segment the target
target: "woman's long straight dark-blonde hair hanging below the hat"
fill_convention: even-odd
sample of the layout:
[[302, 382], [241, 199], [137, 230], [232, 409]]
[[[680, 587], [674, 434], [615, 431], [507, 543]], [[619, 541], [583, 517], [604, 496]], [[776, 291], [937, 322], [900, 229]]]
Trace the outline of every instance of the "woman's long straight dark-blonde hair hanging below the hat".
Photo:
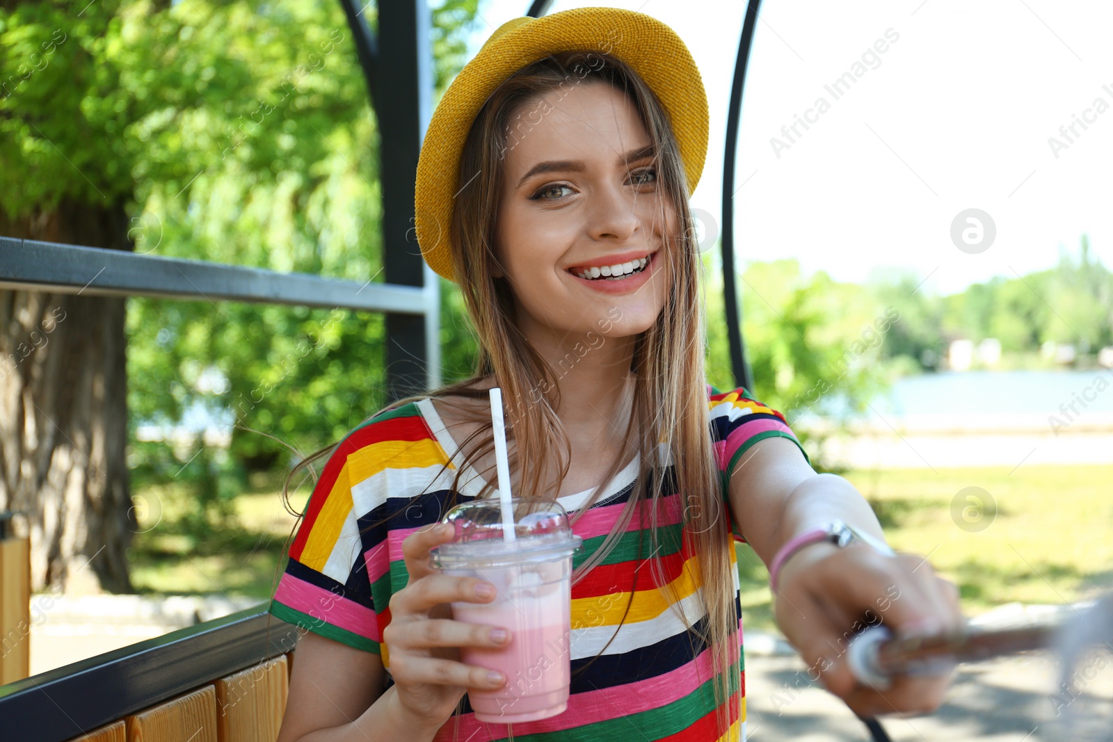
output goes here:
[[[603, 63], [600, 65], [600, 61]], [[572, 77], [573, 71], [575, 78]], [[728, 702], [740, 683], [738, 616], [735, 578], [731, 575], [733, 541], [730, 518], [720, 489], [722, 485], [708, 422], [703, 368], [706, 335], [699, 280], [701, 264], [688, 206], [684, 169], [668, 115], [646, 82], [620, 59], [598, 51], [552, 55], [519, 70], [492, 93], [480, 110], [461, 156], [460, 182], [466, 184], [466, 187], [456, 196], [450, 233], [453, 267], [477, 338], [475, 374], [472, 378], [427, 395], [398, 400], [387, 409], [427, 396], [485, 396], [474, 387], [483, 379], [493, 377], [502, 388], [508, 408], [513, 444], [511, 469], [519, 471], [523, 477], [519, 492], [555, 496], [560, 491], [571, 464], [571, 447], [555, 413], [560, 395], [555, 369], [524, 342], [514, 319], [511, 287], [504, 278], [494, 276], [493, 247], [499, 195], [504, 180], [504, 155], [511, 146], [509, 136], [515, 136], [513, 125], [520, 121], [523, 108], [531, 101], [570, 82], [574, 85], [574, 80], [579, 80], [580, 85], [611, 85], [632, 101], [656, 146], [657, 186], [664, 195], [662, 209], [674, 210], [674, 222], [681, 229], [679, 234], [667, 235], [663, 246], [666, 260], [662, 268], [668, 286], [664, 307], [654, 324], [634, 343], [630, 367], [633, 405], [623, 435], [623, 451], [579, 513], [585, 512], [598, 499], [603, 487], [614, 479], [624, 462], [634, 454], [640, 458], [638, 486], [631, 492], [611, 533], [577, 567], [573, 584], [607, 557], [627, 531], [637, 505], [646, 501], [642, 520], [648, 512], [649, 523], [643, 525], [651, 534], [651, 543], [642, 553], [652, 558], [651, 568], [658, 584], [662, 585], [660, 590], [671, 593], [667, 597], [673, 610], [681, 613], [689, 636], [699, 635], [712, 653], [716, 718], [719, 736], [722, 736], [729, 733], [732, 715]], [[660, 218], [663, 220], [666, 216], [662, 210]], [[476, 461], [493, 451], [490, 417], [477, 416], [474, 423], [480, 427], [461, 446], [469, 461]], [[331, 453], [336, 445], [317, 452], [302, 464]], [[522, 462], [529, 462], [530, 466], [521, 467]], [[670, 464], [671, 473], [668, 471]], [[546, 472], [553, 471], [558, 472], [555, 483], [541, 481]], [[532, 472], [529, 482], [524, 479], [526, 472]], [[461, 474], [462, 471], [456, 474], [457, 484]], [[287, 484], [293, 476], [292, 472]], [[493, 486], [492, 479], [486, 477], [489, 488]], [[698, 555], [699, 574], [692, 576], [702, 585], [708, 613], [705, 631], [696, 626], [696, 621], [683, 615], [680, 596], [664, 578], [661, 557], [654, 556], [663, 546], [669, 546], [660, 543], [662, 534], [668, 532], [657, 524], [662, 497], [668, 492], [674, 492], [682, 498], [682, 538], [691, 540]], [[680, 544], [671, 546], [666, 553], [677, 551]], [[684, 564], [686, 571], [690, 568], [689, 564]], [[633, 590], [630, 593], [632, 598]]]

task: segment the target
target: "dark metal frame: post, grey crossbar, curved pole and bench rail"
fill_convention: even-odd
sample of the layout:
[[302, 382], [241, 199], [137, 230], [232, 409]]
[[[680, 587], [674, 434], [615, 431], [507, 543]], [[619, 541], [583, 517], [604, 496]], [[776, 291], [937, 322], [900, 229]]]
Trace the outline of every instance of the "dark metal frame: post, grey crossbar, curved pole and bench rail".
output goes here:
[[[383, 244], [405, 245], [411, 233], [408, 225], [412, 224], [410, 215], [417, 155], [431, 118], [429, 8], [425, 0], [391, 0], [380, 3], [380, 30], [390, 30], [381, 34], [381, 51], [375, 33], [363, 17], [363, 10], [356, 9], [354, 0], [341, 0], [341, 4], [353, 31], [373, 108], [375, 101], [391, 101], [391, 106], [375, 108], [383, 141], [392, 142], [390, 151], [387, 148], [380, 148], [383, 160]], [[752, 389], [754, 380], [746, 362], [741, 313], [735, 284], [733, 184], [742, 89], [760, 4], [760, 0], [748, 2], [742, 23], [728, 109], [722, 187], [723, 305], [731, 367], [736, 382], [740, 380], [740, 386], [747, 389]], [[551, 6], [552, 0], [532, 0], [526, 16], [540, 18]], [[407, 63], [392, 65], [391, 75], [384, 75], [378, 63], [381, 55]], [[425, 377], [426, 387], [437, 386], [439, 280], [424, 264], [416, 245], [412, 249], [384, 249], [383, 263], [386, 284], [368, 286], [368, 281], [356, 288], [354, 281], [318, 276], [279, 274], [198, 260], [177, 260], [0, 237], [0, 288], [65, 293], [89, 290], [90, 294], [105, 296], [177, 297], [195, 300], [215, 297], [224, 300], [383, 311], [387, 318], [387, 379], [391, 393], [401, 396], [413, 393], [415, 388], [420, 389], [415, 379], [421, 376]], [[91, 270], [97, 266], [97, 270]], [[95, 274], [91, 279], [88, 278], [90, 274]], [[190, 285], [189, 288], [185, 286], [186, 283]], [[367, 293], [357, 298], [364, 290]], [[329, 296], [333, 300], [323, 301], [319, 298], [322, 296]], [[402, 335], [401, 342], [398, 335]], [[279, 629], [276, 636], [268, 634], [272, 622], [285, 626]], [[127, 713], [173, 698], [189, 686], [203, 685], [216, 676], [248, 666], [257, 662], [259, 655], [276, 656], [288, 651], [292, 649], [290, 643], [296, 642], [295, 633], [297, 632], [288, 625], [273, 620], [265, 611], [206, 622], [3, 686], [0, 689], [0, 716], [13, 722], [16, 726], [20, 726], [22, 720], [28, 731], [35, 729], [41, 735], [46, 732], [42, 719], [57, 716], [56, 710], [65, 712], [65, 705], [80, 716], [85, 724], [95, 726], [98, 721], [104, 723], [122, 718]], [[183, 657], [189, 661], [188, 667], [180, 664]], [[140, 677], [146, 677], [146, 681], [137, 682]], [[104, 696], [104, 689], [115, 685], [106, 682], [108, 679], [129, 682], [125, 684], [124, 693], [116, 686], [114, 693]], [[48, 686], [55, 691], [53, 695], [48, 695]], [[101, 692], [100, 695], [97, 695], [98, 691]], [[89, 701], [93, 698], [102, 699], [102, 703], [90, 704]], [[72, 716], [69, 716], [69, 721], [82, 726], [80, 731], [88, 731], [85, 724], [77, 724]], [[888, 740], [876, 720], [863, 721], [877, 742]], [[48, 736], [39, 739], [57, 739], [60, 742], [72, 736], [72, 730], [68, 725], [56, 726]]]

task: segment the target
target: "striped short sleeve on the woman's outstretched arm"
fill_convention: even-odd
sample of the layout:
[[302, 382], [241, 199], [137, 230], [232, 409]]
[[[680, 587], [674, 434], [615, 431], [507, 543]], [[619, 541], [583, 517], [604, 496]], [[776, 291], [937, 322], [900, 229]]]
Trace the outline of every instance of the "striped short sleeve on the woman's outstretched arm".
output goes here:
[[[765, 438], [788, 438], [795, 443], [804, 461], [811, 465], [808, 452], [796, 438], [785, 416], [768, 405], [758, 402], [743, 387], [731, 392], [719, 392], [708, 385], [708, 406], [711, 425], [711, 441], [722, 483], [723, 501], [729, 498], [730, 473], [742, 455], [758, 441]], [[731, 518], [735, 538], [745, 542], [738, 524]]]

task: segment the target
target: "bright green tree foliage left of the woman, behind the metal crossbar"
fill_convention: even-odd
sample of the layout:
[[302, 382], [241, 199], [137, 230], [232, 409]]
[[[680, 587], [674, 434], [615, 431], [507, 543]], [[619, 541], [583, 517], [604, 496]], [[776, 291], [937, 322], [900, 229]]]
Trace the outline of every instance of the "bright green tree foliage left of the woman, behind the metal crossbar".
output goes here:
[[[376, 30], [375, 4], [363, 14]], [[464, 0], [432, 16], [437, 98], [476, 18]], [[120, 205], [137, 253], [382, 280], [378, 146], [335, 0], [0, 9], [9, 218], [63, 201]], [[469, 346], [451, 343], [447, 291], [444, 304], [446, 359], [463, 368]], [[383, 326], [363, 313], [131, 299], [137, 481], [189, 483], [193, 504], [177, 522], [221, 527], [247, 472], [334, 443], [385, 404]], [[140, 424], [169, 427], [198, 406], [226, 419], [227, 452], [199, 437], [140, 439]]]

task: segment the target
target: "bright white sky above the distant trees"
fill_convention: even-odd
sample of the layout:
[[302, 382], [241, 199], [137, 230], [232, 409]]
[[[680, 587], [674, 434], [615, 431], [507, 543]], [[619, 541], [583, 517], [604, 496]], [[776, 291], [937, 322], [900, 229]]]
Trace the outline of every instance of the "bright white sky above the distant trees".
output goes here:
[[[529, 4], [480, 0], [484, 23], [472, 52]], [[691, 202], [720, 220], [745, 0], [556, 0], [550, 14], [592, 4], [653, 16], [691, 50], [711, 116]], [[927, 278], [924, 290], [946, 294], [1051, 267], [1061, 249], [1076, 255], [1089, 234], [1092, 253], [1113, 266], [1110, 28], [1113, 3], [1099, 0], [767, 0], [742, 99], [739, 258], [795, 257], [806, 270], [850, 281], [899, 267]], [[887, 31], [896, 40], [874, 52]], [[855, 71], [860, 77], [838, 98], [825, 89]], [[789, 142], [781, 127], [820, 97], [829, 108], [807, 113], [810, 128], [798, 125]], [[1072, 123], [1068, 141], [1058, 129]], [[779, 157], [772, 137], [790, 145]], [[1057, 157], [1051, 137], [1065, 145]], [[959, 250], [951, 237], [971, 208], [996, 227], [981, 251]]]

